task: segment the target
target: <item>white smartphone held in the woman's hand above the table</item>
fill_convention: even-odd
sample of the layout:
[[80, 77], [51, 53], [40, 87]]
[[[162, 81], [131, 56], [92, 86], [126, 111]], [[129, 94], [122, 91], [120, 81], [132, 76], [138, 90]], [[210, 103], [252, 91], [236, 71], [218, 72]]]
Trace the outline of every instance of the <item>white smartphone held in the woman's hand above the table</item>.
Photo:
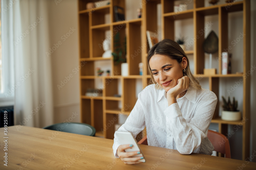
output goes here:
[[133, 157], [138, 157], [138, 156], [142, 157], [143, 156], [144, 159], [141, 159], [138, 161], [146, 162], [145, 156], [143, 155], [140, 146], [138, 145], [137, 141], [132, 136], [131, 132], [116, 131], [115, 134], [116, 134], [116, 137], [118, 138], [118, 140], [120, 141], [121, 145], [127, 145], [127, 144], [133, 145], [132, 148], [125, 149], [125, 152], [140, 151], [141, 152], [140, 154], [134, 155]]

